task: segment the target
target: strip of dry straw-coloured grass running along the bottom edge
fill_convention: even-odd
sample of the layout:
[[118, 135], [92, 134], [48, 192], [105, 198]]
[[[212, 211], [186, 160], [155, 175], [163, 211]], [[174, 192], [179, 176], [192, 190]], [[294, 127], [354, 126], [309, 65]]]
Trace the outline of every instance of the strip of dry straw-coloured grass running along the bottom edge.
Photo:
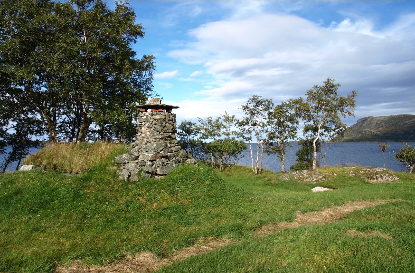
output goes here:
[[142, 252], [135, 255], [131, 253], [125, 253], [125, 257], [120, 261], [109, 263], [105, 266], [87, 266], [82, 261], [73, 261], [71, 266], [59, 266], [56, 269], [56, 273], [146, 273], [157, 271], [162, 266], [168, 266], [174, 261], [186, 259], [190, 256], [205, 253], [212, 249], [224, 247], [229, 244], [227, 239], [213, 240], [209, 238], [201, 238], [198, 240], [198, 244], [192, 247], [176, 251], [171, 256], [160, 259], [151, 252]]

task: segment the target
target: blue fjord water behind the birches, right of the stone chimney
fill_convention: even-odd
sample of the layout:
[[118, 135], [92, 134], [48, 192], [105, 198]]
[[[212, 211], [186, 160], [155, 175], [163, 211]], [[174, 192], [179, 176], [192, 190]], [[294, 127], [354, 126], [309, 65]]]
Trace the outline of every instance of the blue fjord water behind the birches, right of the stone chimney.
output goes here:
[[[285, 168], [286, 171], [290, 171], [290, 166], [293, 165], [295, 161], [295, 152], [298, 150], [299, 146], [297, 142], [290, 143], [293, 148], [287, 148], [287, 155], [285, 158]], [[415, 142], [408, 142], [409, 146], [415, 146]], [[398, 161], [393, 157], [394, 153], [397, 153], [400, 148], [403, 147], [402, 142], [388, 142], [388, 147], [385, 151], [386, 159], [386, 168], [391, 171], [405, 171], [406, 168], [400, 166]], [[243, 165], [251, 167], [251, 155], [249, 150], [249, 144], [247, 144], [248, 149], [242, 152], [244, 155], [243, 158], [239, 159], [238, 165]], [[371, 167], [382, 167], [383, 168], [383, 155], [381, 149], [379, 149], [379, 144], [377, 142], [339, 142], [332, 144], [329, 151], [326, 155], [326, 165], [330, 166], [342, 166], [347, 165], [356, 165], [356, 166], [371, 166]], [[325, 151], [325, 146], [322, 147], [323, 152]], [[252, 152], [254, 161], [256, 160], [256, 143], [252, 144]], [[261, 160], [261, 154], [259, 155], [258, 164]], [[318, 161], [320, 161], [320, 166], [323, 167], [323, 159], [318, 153]], [[262, 161], [262, 168], [273, 172], [281, 172], [281, 161], [276, 155], [267, 155], [264, 153], [264, 159]]]

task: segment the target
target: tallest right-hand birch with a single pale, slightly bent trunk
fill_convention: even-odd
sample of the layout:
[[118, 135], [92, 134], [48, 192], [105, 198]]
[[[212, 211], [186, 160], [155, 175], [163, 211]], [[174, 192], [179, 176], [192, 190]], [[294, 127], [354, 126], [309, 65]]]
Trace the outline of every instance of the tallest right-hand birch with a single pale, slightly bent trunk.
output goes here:
[[301, 97], [288, 101], [305, 122], [304, 134], [313, 139], [312, 170], [317, 168], [317, 141], [322, 134], [329, 132], [328, 128], [338, 132], [346, 130], [346, 124], [341, 118], [354, 117], [358, 94], [356, 90], [347, 94], [347, 97], [337, 94], [340, 84], [335, 84], [332, 78], [327, 78], [323, 83], [324, 85], [314, 85], [312, 89], [307, 90], [306, 99]]

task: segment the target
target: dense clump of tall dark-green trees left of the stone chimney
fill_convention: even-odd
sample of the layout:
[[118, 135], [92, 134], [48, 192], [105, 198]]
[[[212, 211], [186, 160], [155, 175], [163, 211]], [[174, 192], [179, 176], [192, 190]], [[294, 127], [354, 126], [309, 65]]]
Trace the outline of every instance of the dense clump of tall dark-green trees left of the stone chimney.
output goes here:
[[[49, 140], [134, 136], [134, 105], [152, 94], [154, 56], [136, 58], [144, 37], [134, 10], [102, 1], [2, 1], [2, 98], [44, 125]], [[62, 126], [60, 126], [61, 124]], [[73, 137], [76, 132], [76, 137]]]

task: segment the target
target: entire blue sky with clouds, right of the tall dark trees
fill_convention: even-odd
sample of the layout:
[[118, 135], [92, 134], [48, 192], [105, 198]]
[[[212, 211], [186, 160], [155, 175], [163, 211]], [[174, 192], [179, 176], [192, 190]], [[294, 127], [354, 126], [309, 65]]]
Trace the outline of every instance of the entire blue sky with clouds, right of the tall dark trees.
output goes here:
[[[129, 1], [156, 57], [154, 90], [181, 119], [217, 116], [252, 95], [279, 103], [325, 78], [355, 118], [415, 114], [414, 1]], [[114, 2], [107, 1], [109, 7]]]

